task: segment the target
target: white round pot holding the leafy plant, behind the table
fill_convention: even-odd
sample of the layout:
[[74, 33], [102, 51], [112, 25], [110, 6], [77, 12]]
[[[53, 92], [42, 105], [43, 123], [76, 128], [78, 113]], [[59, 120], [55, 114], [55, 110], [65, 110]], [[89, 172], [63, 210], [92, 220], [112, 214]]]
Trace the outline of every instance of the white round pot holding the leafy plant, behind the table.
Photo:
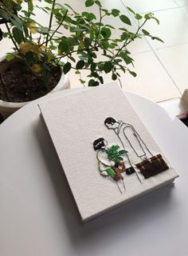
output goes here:
[[[5, 59], [5, 55], [0, 57], [0, 62]], [[69, 74], [63, 74], [61, 70], [61, 78], [57, 83], [57, 86], [49, 92], [49, 94], [57, 90], [65, 90], [70, 88]], [[4, 102], [0, 99], [0, 114], [3, 118], [8, 118], [10, 114], [13, 114], [16, 110], [19, 110], [22, 106], [25, 106], [29, 102]]]

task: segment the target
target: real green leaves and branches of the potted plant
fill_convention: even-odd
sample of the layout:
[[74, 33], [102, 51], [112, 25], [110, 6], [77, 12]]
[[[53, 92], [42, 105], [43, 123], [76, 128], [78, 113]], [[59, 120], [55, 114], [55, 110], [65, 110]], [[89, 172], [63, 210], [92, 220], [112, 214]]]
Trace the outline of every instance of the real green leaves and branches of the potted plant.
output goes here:
[[[98, 86], [104, 83], [103, 74], [110, 73], [112, 80], [119, 79], [119, 70], [129, 72], [133, 65], [131, 53], [127, 46], [135, 39], [143, 36], [162, 41], [153, 37], [143, 29], [147, 21], [154, 19], [153, 14], [136, 14], [127, 7], [138, 22], [138, 29], [132, 32], [132, 22], [119, 10], [106, 10], [98, 0], [86, 0], [88, 11], [77, 13], [68, 4], [61, 5], [56, 0], [41, 0], [42, 7], [32, 0], [1, 0], [0, 24], [4, 23], [6, 31], [0, 29], [0, 40], [10, 38], [14, 43], [16, 54], [7, 54], [6, 59], [18, 57], [22, 59], [29, 70], [48, 85], [49, 70], [52, 66], [62, 66], [65, 74], [73, 69], [80, 75], [82, 70], [88, 70], [88, 86]], [[26, 5], [26, 9], [23, 8]], [[90, 7], [96, 6], [99, 18], [90, 12]], [[35, 10], [39, 8], [49, 14], [49, 26], [37, 22]], [[118, 29], [119, 38], [113, 38], [115, 28], [105, 23], [105, 18], [112, 17], [114, 22], [120, 20], [122, 27]], [[102, 58], [101, 58], [102, 57]], [[65, 62], [62, 62], [65, 58]], [[102, 60], [103, 59], [103, 60]]]

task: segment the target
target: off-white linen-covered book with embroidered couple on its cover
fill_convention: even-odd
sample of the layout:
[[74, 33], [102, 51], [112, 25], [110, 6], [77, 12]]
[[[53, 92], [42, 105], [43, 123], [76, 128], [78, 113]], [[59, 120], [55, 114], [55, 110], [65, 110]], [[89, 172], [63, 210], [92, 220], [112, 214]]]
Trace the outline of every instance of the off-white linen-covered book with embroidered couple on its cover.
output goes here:
[[39, 107], [84, 222], [178, 177], [116, 83]]

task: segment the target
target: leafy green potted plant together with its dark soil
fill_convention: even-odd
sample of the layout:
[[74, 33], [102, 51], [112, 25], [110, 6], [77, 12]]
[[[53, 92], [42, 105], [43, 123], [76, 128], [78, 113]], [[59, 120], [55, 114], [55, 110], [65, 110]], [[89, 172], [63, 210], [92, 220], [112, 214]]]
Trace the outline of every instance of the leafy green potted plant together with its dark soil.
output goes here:
[[[103, 84], [103, 74], [108, 73], [112, 80], [120, 82], [119, 70], [135, 76], [129, 68], [134, 60], [127, 46], [143, 35], [161, 41], [143, 29], [148, 20], [155, 19], [159, 23], [151, 13], [141, 16], [127, 7], [139, 22], [134, 33], [130, 18], [119, 10], [104, 9], [98, 0], [86, 0], [88, 11], [82, 13], [56, 0], [40, 2], [43, 2], [41, 7], [32, 0], [0, 2], [0, 24], [6, 26], [6, 31], [0, 29], [0, 40], [10, 38], [14, 44], [14, 51], [0, 60], [0, 106], [10, 106], [10, 102], [14, 102], [17, 109], [49, 93], [57, 86], [61, 74], [60, 85], [67, 82], [66, 75], [72, 69], [80, 76], [80, 82], [88, 86]], [[89, 12], [93, 5], [99, 10], [98, 18]], [[36, 8], [49, 14], [48, 26], [37, 22]], [[119, 38], [112, 38], [115, 28], [105, 23], [108, 16], [122, 22]], [[82, 70], [88, 70], [87, 82], [81, 76]], [[64, 84], [63, 88], [66, 88]], [[0, 112], [3, 111], [0, 107]]]

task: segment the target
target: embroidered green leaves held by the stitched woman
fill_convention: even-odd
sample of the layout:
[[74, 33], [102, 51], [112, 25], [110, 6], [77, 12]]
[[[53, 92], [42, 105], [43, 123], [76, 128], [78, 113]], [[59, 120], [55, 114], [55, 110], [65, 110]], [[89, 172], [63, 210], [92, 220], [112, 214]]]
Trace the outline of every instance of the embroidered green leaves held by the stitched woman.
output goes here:
[[123, 154], [127, 153], [127, 150], [119, 150], [118, 145], [112, 145], [108, 150], [106, 150], [106, 153], [108, 154], [108, 159], [110, 161], [114, 161], [116, 163], [119, 163], [123, 160], [121, 157]]

